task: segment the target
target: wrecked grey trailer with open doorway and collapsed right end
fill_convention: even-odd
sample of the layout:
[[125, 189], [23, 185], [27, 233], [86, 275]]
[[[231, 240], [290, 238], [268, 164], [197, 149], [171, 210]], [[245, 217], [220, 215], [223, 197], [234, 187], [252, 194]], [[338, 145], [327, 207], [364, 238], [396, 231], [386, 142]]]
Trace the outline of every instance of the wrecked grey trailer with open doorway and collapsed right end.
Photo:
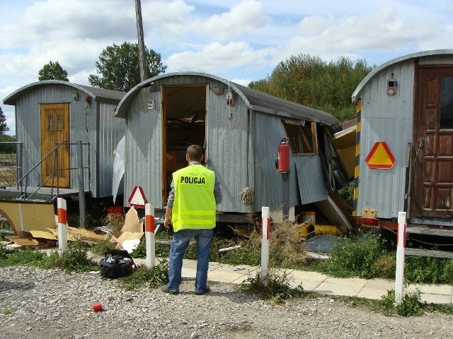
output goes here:
[[[164, 215], [171, 174], [187, 165], [185, 150], [199, 144], [222, 185], [219, 222], [247, 222], [246, 213], [260, 213], [263, 206], [282, 218], [286, 200], [289, 220], [316, 206], [334, 225], [350, 227], [333, 191], [349, 178], [331, 144], [342, 129], [331, 114], [188, 71], [139, 83], [122, 98], [116, 116], [126, 125], [125, 196], [139, 186], [156, 216]], [[290, 148], [286, 198], [275, 164], [284, 138]]]

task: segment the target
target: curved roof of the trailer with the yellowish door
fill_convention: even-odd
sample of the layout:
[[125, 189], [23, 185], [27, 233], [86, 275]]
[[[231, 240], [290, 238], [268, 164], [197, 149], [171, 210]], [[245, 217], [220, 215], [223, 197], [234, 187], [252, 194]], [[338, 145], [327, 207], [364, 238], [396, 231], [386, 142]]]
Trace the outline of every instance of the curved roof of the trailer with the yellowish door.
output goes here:
[[95, 101], [109, 101], [109, 100], [119, 101], [122, 99], [122, 97], [126, 95], [125, 92], [118, 92], [117, 90], [105, 90], [103, 88], [90, 87], [86, 85], [77, 85], [76, 83], [70, 83], [69, 81], [45, 80], [37, 81], [35, 83], [29, 83], [28, 85], [25, 85], [22, 88], [15, 90], [13, 93], [5, 97], [3, 102], [5, 105], [16, 105], [16, 100], [18, 99], [18, 97], [21, 97], [21, 95], [29, 92], [30, 90], [35, 90], [38, 87], [46, 85], [67, 85], [77, 90], [81, 90], [82, 92], [86, 93], [86, 95], [93, 97], [93, 100]]

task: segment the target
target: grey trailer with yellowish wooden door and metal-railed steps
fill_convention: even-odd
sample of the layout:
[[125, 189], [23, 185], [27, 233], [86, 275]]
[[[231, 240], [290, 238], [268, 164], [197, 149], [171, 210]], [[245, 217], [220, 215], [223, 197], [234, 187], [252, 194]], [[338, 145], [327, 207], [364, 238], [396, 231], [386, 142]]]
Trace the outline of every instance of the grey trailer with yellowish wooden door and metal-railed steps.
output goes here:
[[50, 80], [30, 83], [5, 97], [4, 104], [15, 106], [22, 180], [17, 187], [1, 189], [0, 195], [30, 198], [24, 196], [26, 191], [32, 198], [52, 200], [57, 192], [76, 195], [83, 184], [93, 198], [112, 196], [113, 152], [125, 135], [125, 121], [114, 113], [124, 95]]

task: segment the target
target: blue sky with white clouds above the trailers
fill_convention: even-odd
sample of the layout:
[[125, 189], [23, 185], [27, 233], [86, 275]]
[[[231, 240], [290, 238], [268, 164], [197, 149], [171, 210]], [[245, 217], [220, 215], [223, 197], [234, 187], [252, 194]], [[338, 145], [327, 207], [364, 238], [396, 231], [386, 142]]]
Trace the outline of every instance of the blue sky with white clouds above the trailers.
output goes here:
[[[369, 66], [430, 49], [453, 49], [453, 0], [141, 0], [144, 43], [166, 73], [199, 71], [248, 85], [291, 56], [365, 59]], [[58, 61], [89, 85], [105, 47], [137, 42], [134, 0], [0, 0], [3, 99]], [[351, 93], [352, 95], [352, 93]]]

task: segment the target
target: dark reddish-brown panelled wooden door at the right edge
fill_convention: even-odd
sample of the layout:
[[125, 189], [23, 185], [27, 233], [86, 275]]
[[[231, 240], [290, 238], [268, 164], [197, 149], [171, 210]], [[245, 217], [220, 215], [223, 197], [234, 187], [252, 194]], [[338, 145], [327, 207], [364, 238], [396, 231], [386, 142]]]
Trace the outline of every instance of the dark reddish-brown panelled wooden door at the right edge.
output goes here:
[[452, 217], [453, 67], [418, 69], [411, 217]]

